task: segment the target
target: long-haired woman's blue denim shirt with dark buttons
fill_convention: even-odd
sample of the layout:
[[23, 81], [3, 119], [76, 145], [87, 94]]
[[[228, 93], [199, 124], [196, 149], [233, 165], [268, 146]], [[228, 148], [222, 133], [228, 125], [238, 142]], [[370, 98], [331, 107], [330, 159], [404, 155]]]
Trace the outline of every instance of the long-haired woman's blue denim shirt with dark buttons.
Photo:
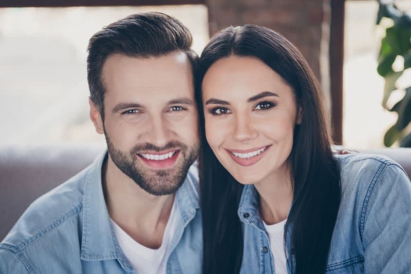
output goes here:
[[[394, 161], [376, 155], [336, 155], [342, 199], [326, 272], [411, 273], [411, 183]], [[246, 185], [238, 216], [244, 231], [241, 274], [275, 273], [267, 232], [258, 213], [258, 193]], [[292, 273], [290, 233], [287, 270]]]

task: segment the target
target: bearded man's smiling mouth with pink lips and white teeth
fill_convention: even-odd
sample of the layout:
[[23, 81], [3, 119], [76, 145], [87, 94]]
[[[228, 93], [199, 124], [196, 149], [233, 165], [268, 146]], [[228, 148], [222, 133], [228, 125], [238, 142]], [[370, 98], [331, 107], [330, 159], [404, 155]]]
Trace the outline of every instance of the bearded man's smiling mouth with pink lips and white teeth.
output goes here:
[[137, 153], [139, 158], [148, 166], [155, 169], [166, 169], [176, 162], [180, 149], [170, 149], [161, 152]]

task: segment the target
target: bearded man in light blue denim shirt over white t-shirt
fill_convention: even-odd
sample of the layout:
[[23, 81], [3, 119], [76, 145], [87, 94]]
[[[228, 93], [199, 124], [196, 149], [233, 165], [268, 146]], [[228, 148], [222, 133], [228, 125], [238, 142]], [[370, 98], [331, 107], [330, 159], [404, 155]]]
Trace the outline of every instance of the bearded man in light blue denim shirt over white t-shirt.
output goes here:
[[91, 37], [90, 119], [108, 153], [26, 210], [0, 244], [1, 273], [200, 272], [191, 44], [154, 12]]

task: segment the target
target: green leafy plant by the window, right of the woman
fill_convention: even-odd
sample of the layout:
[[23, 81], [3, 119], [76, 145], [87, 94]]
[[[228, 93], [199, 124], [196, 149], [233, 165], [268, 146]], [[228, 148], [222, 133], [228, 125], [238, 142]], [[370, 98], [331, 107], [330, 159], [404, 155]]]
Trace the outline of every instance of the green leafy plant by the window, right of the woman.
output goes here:
[[[380, 0], [379, 4], [377, 25], [383, 17], [394, 21], [394, 26], [385, 30], [386, 35], [381, 40], [378, 56], [377, 71], [385, 79], [382, 105], [389, 111], [398, 113], [397, 122], [385, 133], [384, 145], [392, 146], [398, 140], [401, 147], [411, 147], [411, 130], [408, 127], [411, 122], [411, 86], [405, 88], [404, 97], [393, 107], [387, 106], [391, 92], [397, 90], [397, 80], [405, 70], [411, 69], [411, 15], [400, 11], [394, 1], [388, 3]], [[393, 63], [397, 56], [404, 58], [404, 68], [400, 71], [393, 70]]]

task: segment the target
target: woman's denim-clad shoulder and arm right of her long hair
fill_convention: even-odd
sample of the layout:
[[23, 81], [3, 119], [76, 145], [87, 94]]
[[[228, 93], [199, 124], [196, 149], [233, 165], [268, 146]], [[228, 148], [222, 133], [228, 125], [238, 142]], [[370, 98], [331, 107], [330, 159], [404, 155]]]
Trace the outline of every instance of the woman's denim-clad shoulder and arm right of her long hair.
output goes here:
[[411, 183], [404, 169], [382, 155], [352, 153], [335, 159], [342, 197], [328, 269], [409, 269], [403, 254], [411, 243]]

